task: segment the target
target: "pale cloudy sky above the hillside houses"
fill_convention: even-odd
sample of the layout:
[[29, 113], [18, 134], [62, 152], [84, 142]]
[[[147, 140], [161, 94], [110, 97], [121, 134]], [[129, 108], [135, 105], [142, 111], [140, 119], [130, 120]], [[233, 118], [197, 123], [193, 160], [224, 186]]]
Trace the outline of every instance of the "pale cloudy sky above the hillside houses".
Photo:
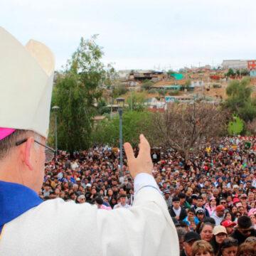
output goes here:
[[56, 70], [94, 34], [116, 70], [178, 70], [256, 59], [255, 10], [254, 0], [0, 0], [0, 26], [45, 43]]

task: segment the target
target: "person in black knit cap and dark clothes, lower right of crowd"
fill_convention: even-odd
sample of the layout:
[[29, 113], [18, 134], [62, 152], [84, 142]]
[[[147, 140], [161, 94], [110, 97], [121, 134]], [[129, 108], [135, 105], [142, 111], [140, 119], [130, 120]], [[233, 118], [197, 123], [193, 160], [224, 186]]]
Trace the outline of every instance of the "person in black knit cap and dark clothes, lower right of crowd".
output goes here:
[[230, 237], [237, 239], [238, 245], [241, 245], [250, 236], [256, 236], [256, 230], [252, 228], [252, 220], [248, 216], [240, 216], [238, 218], [238, 228], [235, 228], [235, 232]]

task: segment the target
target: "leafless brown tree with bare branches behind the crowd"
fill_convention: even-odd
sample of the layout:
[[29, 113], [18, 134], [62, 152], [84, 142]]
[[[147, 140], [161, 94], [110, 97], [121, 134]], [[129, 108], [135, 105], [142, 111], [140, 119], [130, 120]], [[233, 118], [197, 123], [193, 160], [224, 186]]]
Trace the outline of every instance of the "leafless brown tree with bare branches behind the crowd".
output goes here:
[[217, 142], [225, 124], [224, 112], [213, 105], [173, 103], [153, 115], [147, 134], [153, 146], [176, 149], [188, 160], [191, 148], [196, 152], [207, 142]]

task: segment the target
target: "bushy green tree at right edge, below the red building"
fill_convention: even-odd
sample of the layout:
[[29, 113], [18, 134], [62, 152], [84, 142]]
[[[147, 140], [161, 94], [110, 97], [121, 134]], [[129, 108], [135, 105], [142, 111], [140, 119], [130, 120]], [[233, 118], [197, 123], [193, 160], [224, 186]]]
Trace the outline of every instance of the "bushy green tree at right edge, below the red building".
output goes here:
[[256, 116], [256, 101], [251, 97], [250, 78], [231, 81], [226, 88], [226, 93], [228, 99], [225, 100], [223, 107], [230, 113], [237, 114], [245, 122]]

